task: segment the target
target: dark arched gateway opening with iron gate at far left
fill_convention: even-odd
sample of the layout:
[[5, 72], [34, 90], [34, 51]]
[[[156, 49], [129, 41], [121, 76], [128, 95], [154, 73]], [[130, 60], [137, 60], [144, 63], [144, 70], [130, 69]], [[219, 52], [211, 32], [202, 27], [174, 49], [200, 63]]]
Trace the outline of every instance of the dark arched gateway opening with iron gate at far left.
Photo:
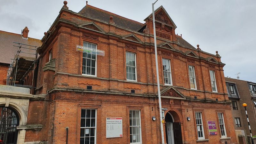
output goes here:
[[0, 107], [0, 144], [16, 144], [19, 117], [11, 108]]

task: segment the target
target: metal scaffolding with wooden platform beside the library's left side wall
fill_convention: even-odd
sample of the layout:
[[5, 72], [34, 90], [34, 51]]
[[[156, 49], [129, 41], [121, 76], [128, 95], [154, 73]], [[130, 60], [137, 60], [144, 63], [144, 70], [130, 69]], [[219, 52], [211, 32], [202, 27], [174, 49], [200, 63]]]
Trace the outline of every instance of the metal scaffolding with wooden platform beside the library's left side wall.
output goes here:
[[[19, 42], [13, 42], [17, 51], [14, 54], [14, 58], [11, 59], [9, 69], [7, 71], [7, 80], [6, 85], [27, 87], [32, 91], [34, 77], [35, 77], [35, 68], [37, 62], [37, 46], [23, 44], [22, 40], [22, 31], [20, 35]], [[25, 78], [33, 71], [32, 84], [24, 85]]]

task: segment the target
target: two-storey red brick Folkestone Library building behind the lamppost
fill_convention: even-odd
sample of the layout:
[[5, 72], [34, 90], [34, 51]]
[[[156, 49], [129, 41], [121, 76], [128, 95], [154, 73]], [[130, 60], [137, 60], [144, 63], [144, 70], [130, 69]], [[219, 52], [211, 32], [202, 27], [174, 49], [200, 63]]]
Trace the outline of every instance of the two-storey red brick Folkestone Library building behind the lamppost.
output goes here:
[[[237, 143], [220, 55], [176, 35], [163, 6], [155, 18], [164, 143]], [[42, 127], [25, 143], [161, 143], [152, 14], [144, 21], [64, 2], [38, 49], [45, 98], [29, 101], [27, 125]]]

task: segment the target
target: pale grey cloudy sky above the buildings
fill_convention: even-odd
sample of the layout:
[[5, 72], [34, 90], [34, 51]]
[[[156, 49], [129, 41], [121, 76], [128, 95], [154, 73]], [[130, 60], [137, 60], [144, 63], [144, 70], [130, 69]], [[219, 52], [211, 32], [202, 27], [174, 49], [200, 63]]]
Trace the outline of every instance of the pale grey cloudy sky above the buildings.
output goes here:
[[[155, 0], [88, 0], [88, 4], [144, 23]], [[79, 12], [86, 0], [68, 0]], [[176, 34], [202, 51], [216, 54], [225, 63], [224, 75], [256, 82], [255, 0], [158, 0], [176, 24]], [[63, 0], [0, 0], [0, 30], [42, 39], [63, 6]]]

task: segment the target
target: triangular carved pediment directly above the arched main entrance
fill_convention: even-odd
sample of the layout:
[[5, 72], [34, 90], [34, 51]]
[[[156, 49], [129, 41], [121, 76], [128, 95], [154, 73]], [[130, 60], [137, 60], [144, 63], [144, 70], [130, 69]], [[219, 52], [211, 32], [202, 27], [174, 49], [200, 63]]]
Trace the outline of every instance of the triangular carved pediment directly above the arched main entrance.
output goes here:
[[177, 99], [186, 99], [186, 97], [182, 93], [180, 93], [178, 90], [176, 90], [173, 86], [169, 86], [165, 88], [161, 92], [161, 96], [170, 97], [170, 98], [172, 97]]

